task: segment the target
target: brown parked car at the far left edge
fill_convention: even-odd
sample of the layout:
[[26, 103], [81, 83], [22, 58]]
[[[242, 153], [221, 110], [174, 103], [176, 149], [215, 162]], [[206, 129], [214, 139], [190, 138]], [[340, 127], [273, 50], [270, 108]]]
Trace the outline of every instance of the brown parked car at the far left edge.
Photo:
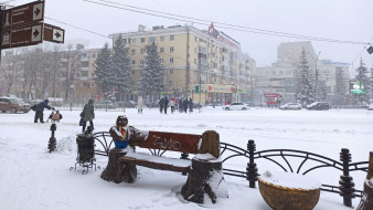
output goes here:
[[0, 97], [0, 111], [6, 113], [30, 112], [31, 105], [17, 97]]

